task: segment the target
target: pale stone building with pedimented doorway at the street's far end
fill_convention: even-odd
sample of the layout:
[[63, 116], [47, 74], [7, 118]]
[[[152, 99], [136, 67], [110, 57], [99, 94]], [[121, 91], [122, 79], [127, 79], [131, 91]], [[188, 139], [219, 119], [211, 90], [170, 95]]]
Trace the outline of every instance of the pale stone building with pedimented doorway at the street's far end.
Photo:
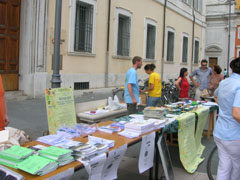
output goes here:
[[[237, 7], [237, 1], [207, 1], [205, 53], [210, 66], [218, 64], [222, 69], [227, 69], [228, 61], [231, 61], [238, 54], [237, 30], [240, 14]], [[228, 41], [230, 41], [229, 51]]]

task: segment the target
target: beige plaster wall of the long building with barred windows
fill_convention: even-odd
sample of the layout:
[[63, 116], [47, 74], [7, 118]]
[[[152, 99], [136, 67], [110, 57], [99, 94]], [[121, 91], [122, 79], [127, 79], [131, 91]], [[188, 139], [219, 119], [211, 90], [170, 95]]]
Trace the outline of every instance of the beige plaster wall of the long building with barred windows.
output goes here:
[[[71, 0], [69, 0], [71, 1]], [[104, 73], [106, 63], [106, 44], [107, 44], [107, 13], [108, 1], [97, 0], [96, 13], [96, 33], [95, 33], [95, 51], [91, 56], [70, 55], [68, 53], [69, 46], [69, 26], [70, 26], [70, 3], [63, 1], [62, 4], [62, 40], [61, 54], [63, 55], [63, 70], [60, 73], [63, 79], [70, 81], [66, 85], [72, 85], [74, 81], [83, 81], [78, 76], [85, 75], [86, 81], [94, 81], [94, 77], [99, 78], [97, 85], [90, 87], [104, 87]], [[115, 57], [114, 50], [114, 34], [117, 32], [115, 27], [115, 11], [116, 7], [121, 7], [132, 12], [131, 23], [131, 44], [130, 44], [130, 59], [122, 59]], [[161, 57], [162, 57], [162, 33], [163, 33], [163, 5], [153, 0], [112, 0], [111, 17], [110, 17], [110, 50], [109, 50], [109, 79], [110, 86], [118, 86], [124, 83], [126, 71], [131, 67], [131, 58], [135, 55], [144, 55], [144, 21], [145, 18], [151, 18], [157, 23], [157, 40], [156, 40], [156, 58], [155, 61], [144, 62], [155, 63], [156, 71], [160, 73]], [[48, 26], [48, 53], [47, 53], [47, 72], [52, 74], [51, 63], [53, 54], [53, 37], [54, 37], [54, 22], [55, 22], [55, 1], [49, 1], [49, 26]], [[192, 48], [192, 21], [179, 13], [167, 9], [166, 26], [175, 29], [175, 45], [174, 45], [174, 64], [164, 63], [165, 78], [177, 77], [179, 69], [182, 66], [190, 67], [191, 48]], [[202, 31], [203, 27], [195, 25], [195, 37], [199, 38], [200, 51], [199, 56], [202, 57]], [[181, 46], [182, 32], [189, 35], [188, 41], [188, 64], [181, 64]], [[166, 41], [165, 41], [166, 42]], [[166, 43], [165, 43], [166, 44]], [[166, 50], [166, 47], [165, 47]], [[166, 56], [166, 51], [165, 51]], [[144, 66], [143, 65], [143, 66]], [[147, 76], [143, 68], [139, 71], [142, 76]], [[68, 78], [67, 75], [71, 77]], [[77, 75], [75, 77], [75, 75]], [[141, 77], [140, 75], [140, 77]], [[90, 77], [91, 78], [88, 78]], [[93, 84], [93, 83], [92, 83]]]

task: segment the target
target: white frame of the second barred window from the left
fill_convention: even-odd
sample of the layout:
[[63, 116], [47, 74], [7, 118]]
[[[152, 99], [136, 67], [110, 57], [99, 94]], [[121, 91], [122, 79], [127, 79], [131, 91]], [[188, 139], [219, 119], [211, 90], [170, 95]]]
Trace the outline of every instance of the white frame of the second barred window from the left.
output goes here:
[[115, 27], [115, 33], [114, 33], [114, 55], [120, 56], [117, 54], [117, 46], [118, 46], [118, 20], [119, 20], [119, 14], [122, 14], [124, 16], [128, 16], [130, 18], [130, 39], [129, 39], [129, 57], [131, 57], [131, 37], [132, 37], [132, 12], [124, 9], [122, 7], [116, 7], [115, 8], [115, 18], [114, 18], [114, 27]]

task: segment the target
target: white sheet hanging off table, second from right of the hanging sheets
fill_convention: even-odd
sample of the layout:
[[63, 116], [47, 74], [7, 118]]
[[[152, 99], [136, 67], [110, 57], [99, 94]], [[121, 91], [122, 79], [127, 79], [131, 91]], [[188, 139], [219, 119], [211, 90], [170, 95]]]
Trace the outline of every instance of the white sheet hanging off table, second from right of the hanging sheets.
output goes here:
[[127, 144], [124, 144], [123, 146], [109, 152], [107, 161], [103, 168], [102, 179], [117, 179], [117, 170], [126, 150]]

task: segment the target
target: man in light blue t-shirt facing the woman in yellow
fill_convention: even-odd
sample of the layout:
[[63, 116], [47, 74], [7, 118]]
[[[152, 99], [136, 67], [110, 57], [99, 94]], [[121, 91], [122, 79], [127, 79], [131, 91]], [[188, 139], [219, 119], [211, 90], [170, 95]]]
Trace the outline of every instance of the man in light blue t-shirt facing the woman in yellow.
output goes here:
[[137, 112], [137, 103], [139, 102], [139, 86], [137, 69], [142, 67], [142, 58], [135, 56], [132, 59], [132, 67], [126, 73], [124, 100], [127, 103], [128, 114]]

